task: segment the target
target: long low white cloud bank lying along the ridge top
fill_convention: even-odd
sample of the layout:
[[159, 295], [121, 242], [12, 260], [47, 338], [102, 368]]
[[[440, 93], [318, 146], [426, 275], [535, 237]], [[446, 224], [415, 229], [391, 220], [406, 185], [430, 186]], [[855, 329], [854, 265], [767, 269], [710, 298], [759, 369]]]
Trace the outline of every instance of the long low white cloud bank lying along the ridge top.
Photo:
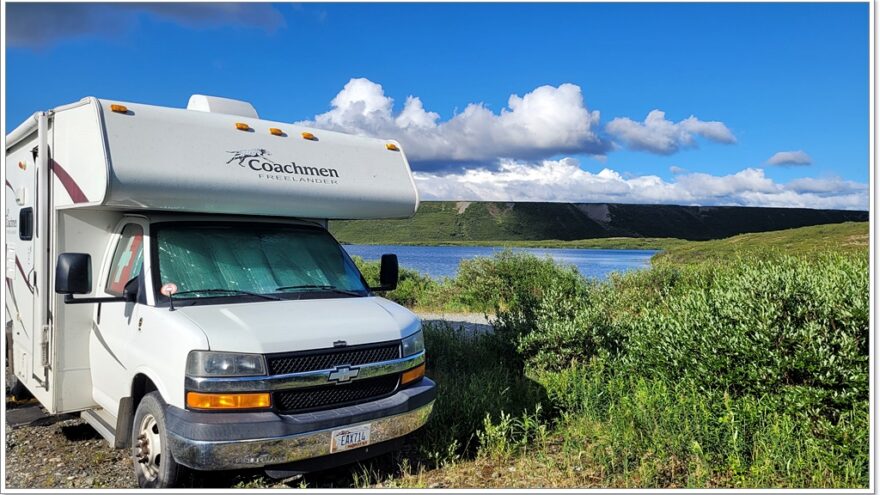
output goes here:
[[610, 168], [597, 173], [577, 160], [537, 163], [502, 160], [497, 170], [459, 173], [416, 172], [425, 200], [564, 201], [642, 204], [774, 206], [867, 209], [865, 184], [830, 179], [797, 179], [778, 183], [762, 169], [735, 174], [682, 173], [666, 181], [655, 175], [628, 176]]

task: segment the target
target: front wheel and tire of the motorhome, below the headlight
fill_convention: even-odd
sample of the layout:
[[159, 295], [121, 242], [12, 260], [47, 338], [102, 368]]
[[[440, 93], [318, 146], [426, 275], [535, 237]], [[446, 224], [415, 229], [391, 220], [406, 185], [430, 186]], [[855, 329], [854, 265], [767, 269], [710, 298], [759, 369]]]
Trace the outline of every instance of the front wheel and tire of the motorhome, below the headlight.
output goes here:
[[131, 445], [131, 458], [138, 486], [173, 488], [177, 485], [183, 467], [168, 450], [165, 402], [159, 392], [150, 392], [138, 404], [131, 428]]

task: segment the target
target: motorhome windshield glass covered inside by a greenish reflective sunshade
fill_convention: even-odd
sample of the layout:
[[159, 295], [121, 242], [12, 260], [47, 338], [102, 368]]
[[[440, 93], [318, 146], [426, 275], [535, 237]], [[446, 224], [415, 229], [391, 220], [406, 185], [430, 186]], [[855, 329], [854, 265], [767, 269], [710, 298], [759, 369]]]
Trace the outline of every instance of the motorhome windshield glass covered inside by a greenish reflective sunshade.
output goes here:
[[164, 223], [154, 225], [153, 238], [158, 287], [175, 284], [175, 300], [368, 294], [351, 258], [323, 229], [259, 222]]

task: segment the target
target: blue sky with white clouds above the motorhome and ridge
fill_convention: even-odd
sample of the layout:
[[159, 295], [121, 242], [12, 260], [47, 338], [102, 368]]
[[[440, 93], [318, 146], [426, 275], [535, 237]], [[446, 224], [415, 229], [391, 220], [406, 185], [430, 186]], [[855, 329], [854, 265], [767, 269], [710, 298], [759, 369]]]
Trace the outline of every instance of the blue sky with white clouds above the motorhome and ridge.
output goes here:
[[203, 93], [399, 139], [425, 199], [867, 208], [867, 3], [7, 4], [7, 23], [7, 132], [86, 95]]

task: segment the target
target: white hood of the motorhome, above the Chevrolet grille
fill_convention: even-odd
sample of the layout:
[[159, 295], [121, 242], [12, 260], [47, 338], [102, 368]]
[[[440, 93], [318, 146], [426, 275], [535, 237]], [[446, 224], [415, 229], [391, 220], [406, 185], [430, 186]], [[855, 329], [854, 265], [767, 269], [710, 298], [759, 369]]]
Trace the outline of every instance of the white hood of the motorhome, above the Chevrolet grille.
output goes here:
[[379, 297], [259, 301], [179, 307], [198, 325], [210, 349], [292, 352], [397, 340], [421, 322], [406, 308]]

